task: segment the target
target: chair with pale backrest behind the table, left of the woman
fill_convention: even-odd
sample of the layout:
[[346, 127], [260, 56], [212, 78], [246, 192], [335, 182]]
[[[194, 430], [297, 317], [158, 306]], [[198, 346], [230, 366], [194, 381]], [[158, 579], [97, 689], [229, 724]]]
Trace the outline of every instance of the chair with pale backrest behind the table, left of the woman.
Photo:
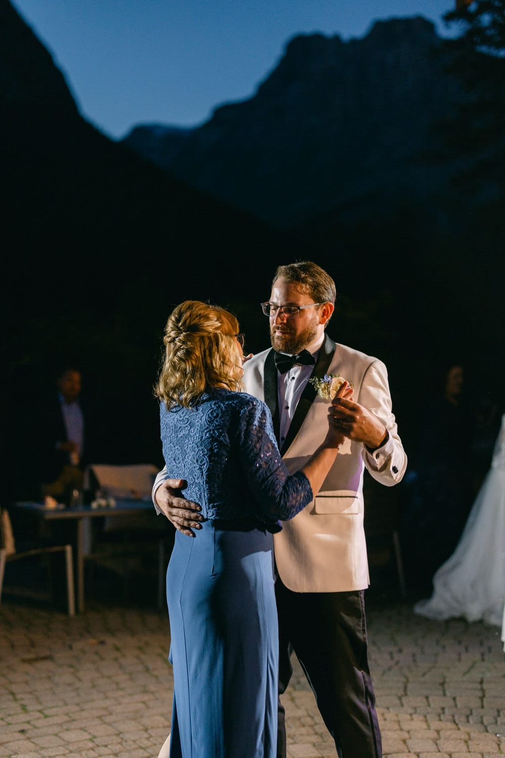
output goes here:
[[[158, 467], [152, 464], [89, 465], [85, 471], [85, 490], [100, 492], [118, 500], [151, 500], [151, 490]], [[96, 519], [92, 519], [95, 525]], [[165, 597], [165, 575], [168, 554], [173, 542], [173, 528], [167, 519], [154, 512], [142, 515], [108, 518], [106, 513], [98, 530], [90, 538], [86, 561], [116, 570], [123, 576], [123, 597], [129, 594], [132, 571], [144, 573], [143, 559], [157, 558], [157, 607], [162, 609]]]

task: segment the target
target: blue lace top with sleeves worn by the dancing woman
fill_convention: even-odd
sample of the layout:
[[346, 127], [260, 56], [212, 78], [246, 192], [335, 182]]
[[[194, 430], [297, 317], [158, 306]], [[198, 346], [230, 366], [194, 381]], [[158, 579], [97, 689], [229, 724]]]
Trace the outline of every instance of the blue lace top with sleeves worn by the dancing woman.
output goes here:
[[161, 441], [170, 478], [206, 518], [257, 516], [279, 531], [313, 499], [307, 477], [290, 475], [273, 433], [270, 409], [246, 393], [212, 390], [194, 409], [160, 406]]

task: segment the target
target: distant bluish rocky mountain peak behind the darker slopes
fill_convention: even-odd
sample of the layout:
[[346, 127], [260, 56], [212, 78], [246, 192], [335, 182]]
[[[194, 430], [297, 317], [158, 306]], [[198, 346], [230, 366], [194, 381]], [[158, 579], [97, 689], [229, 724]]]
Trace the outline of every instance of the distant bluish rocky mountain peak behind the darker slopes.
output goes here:
[[447, 189], [450, 168], [421, 155], [461, 96], [440, 46], [422, 17], [377, 21], [348, 42], [295, 36], [250, 99], [191, 130], [139, 125], [123, 143], [279, 227], [423, 202]]

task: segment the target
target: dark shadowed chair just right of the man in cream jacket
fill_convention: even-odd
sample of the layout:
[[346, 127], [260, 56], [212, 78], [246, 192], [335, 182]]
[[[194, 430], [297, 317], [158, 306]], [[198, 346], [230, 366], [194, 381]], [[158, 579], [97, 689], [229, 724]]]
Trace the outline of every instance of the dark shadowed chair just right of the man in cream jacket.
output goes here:
[[401, 597], [407, 597], [404, 561], [401, 555], [397, 487], [379, 484], [365, 470], [363, 498], [366, 550], [370, 570], [373, 572], [374, 568], [384, 568], [394, 560]]

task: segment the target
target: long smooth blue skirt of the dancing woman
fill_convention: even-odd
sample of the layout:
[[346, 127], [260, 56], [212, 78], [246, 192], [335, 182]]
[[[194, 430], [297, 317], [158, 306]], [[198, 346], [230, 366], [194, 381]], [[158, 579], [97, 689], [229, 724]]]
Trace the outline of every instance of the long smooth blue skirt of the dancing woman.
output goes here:
[[246, 522], [176, 532], [167, 569], [170, 758], [275, 758], [273, 539]]

